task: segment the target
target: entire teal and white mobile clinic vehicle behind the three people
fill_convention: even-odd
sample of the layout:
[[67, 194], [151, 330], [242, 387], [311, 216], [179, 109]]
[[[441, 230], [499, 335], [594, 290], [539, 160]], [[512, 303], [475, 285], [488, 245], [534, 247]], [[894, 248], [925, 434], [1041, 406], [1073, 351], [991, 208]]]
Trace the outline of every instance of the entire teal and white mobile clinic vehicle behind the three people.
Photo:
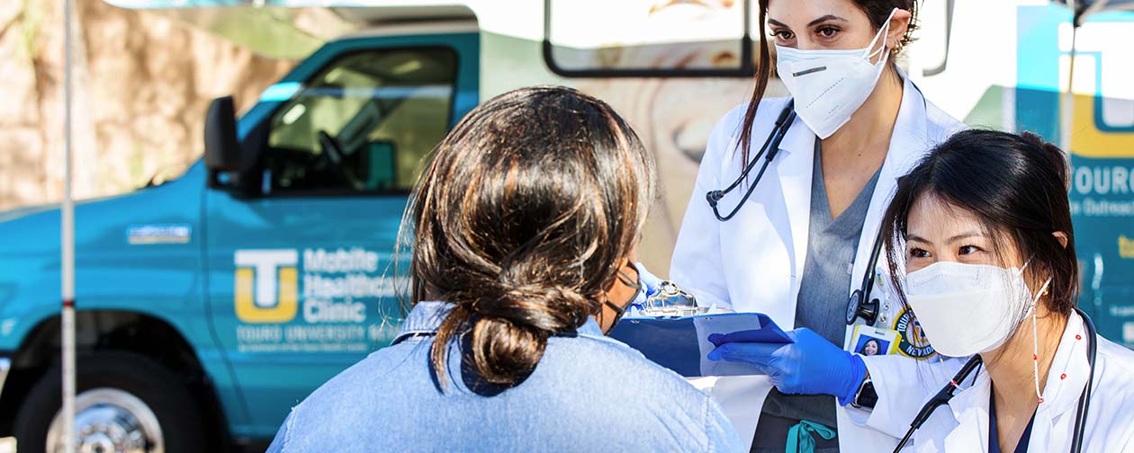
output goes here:
[[[111, 3], [237, 6], [213, 19], [251, 9], [243, 0]], [[648, 266], [666, 270], [704, 140], [751, 87], [744, 46], [755, 35], [744, 2], [349, 3], [332, 11], [352, 31], [304, 57], [238, 119], [231, 99], [213, 102], [205, 154], [181, 177], [77, 205], [84, 447], [263, 447], [294, 404], [388, 344], [406, 283], [395, 243], [420, 165], [477, 102], [514, 87], [575, 86], [637, 129], [666, 187], [641, 249]], [[1076, 92], [1080, 127], [1061, 129], [1060, 24], [1070, 12], [998, 2], [995, 12], [1016, 26], [973, 24], [980, 40], [950, 39], [989, 16], [967, 11], [985, 8], [974, 3], [924, 8], [926, 35], [911, 50], [924, 58], [909, 72], [957, 118], [1070, 144], [1081, 305], [1100, 333], [1134, 345], [1134, 96], [1115, 88], [1129, 74], [1099, 66]], [[1120, 58], [1107, 36], [1120, 46], [1131, 32], [1131, 15], [1088, 20], [1082, 33], [1097, 37], [1083, 42], [1095, 48], [1083, 54], [1094, 60], [1077, 67]], [[992, 57], [972, 60], [982, 54]], [[59, 224], [58, 206], [0, 213], [0, 436], [15, 436], [20, 451], [60, 443]]]

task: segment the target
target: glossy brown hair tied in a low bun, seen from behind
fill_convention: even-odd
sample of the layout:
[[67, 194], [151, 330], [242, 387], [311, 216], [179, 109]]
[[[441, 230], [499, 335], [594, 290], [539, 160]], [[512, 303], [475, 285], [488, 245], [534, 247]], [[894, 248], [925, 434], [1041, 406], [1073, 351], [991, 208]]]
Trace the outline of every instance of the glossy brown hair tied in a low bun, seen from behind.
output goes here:
[[654, 194], [653, 157], [594, 97], [522, 88], [465, 116], [407, 208], [412, 302], [452, 305], [431, 350], [441, 385], [455, 337], [480, 378], [510, 386], [599, 313]]

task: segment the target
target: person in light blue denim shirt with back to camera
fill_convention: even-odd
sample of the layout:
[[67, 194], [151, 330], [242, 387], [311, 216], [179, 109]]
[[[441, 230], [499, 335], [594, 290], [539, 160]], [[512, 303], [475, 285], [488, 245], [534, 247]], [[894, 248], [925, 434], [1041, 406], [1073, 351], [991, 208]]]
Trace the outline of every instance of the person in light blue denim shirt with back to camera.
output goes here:
[[269, 451], [739, 450], [706, 394], [604, 336], [640, 292], [654, 194], [651, 155], [599, 100], [535, 87], [474, 109], [406, 211], [401, 334], [296, 405]]

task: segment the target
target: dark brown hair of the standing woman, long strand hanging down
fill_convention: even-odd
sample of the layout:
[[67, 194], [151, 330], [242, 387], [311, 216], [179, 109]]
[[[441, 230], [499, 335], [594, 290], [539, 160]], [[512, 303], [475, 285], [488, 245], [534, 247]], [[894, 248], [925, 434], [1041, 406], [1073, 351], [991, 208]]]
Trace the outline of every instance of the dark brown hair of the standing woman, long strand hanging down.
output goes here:
[[[789, 1], [789, 0], [782, 0]], [[886, 19], [890, 17], [890, 11], [894, 8], [905, 9], [909, 11], [909, 26], [906, 28], [906, 34], [898, 42], [898, 46], [890, 49], [889, 66], [895, 68], [895, 59], [902, 52], [902, 49], [906, 44], [913, 42], [913, 32], [917, 28], [917, 0], [850, 0], [854, 2], [858, 9], [866, 14], [870, 18], [870, 23], [874, 25], [874, 31], [882, 28], [886, 24]], [[746, 162], [748, 162], [748, 148], [752, 147], [752, 125], [756, 121], [756, 109], [760, 106], [760, 101], [764, 99], [764, 92], [768, 91], [768, 80], [771, 78], [772, 61], [771, 51], [768, 50], [768, 33], [765, 33], [765, 24], [768, 22], [768, 0], [759, 0], [760, 8], [758, 11], [756, 26], [759, 27], [758, 34], [760, 35], [760, 50], [759, 57], [756, 58], [756, 85], [752, 88], [752, 99], [748, 100], [748, 106], [744, 111], [744, 121], [741, 122], [741, 140], [737, 146], [741, 147], [741, 166], [743, 168]]]

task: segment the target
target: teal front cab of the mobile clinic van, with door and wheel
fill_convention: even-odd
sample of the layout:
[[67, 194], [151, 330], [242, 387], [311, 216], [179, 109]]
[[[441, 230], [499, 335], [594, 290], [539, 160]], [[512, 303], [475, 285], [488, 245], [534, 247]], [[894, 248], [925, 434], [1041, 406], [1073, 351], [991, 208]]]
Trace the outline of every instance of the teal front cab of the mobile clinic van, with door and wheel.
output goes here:
[[[390, 342], [415, 171], [480, 99], [479, 34], [449, 28], [330, 42], [238, 121], [214, 101], [180, 178], [76, 206], [83, 443], [263, 442]], [[20, 451], [54, 451], [59, 425], [59, 216], [0, 214], [0, 424]]]

